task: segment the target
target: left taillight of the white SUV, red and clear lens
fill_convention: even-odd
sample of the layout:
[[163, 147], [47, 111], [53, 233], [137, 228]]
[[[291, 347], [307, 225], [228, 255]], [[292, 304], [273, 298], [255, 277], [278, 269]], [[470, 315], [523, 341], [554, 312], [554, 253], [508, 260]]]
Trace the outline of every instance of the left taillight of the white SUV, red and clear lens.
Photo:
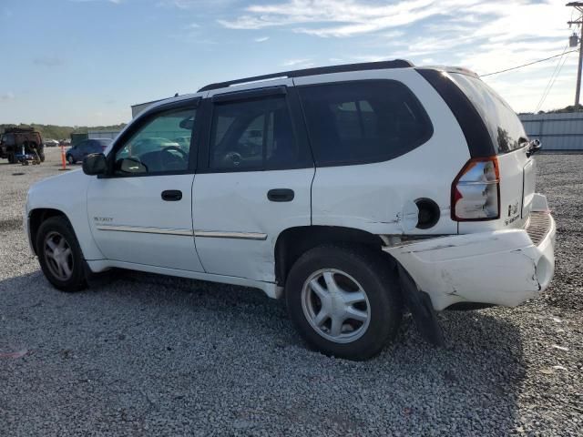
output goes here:
[[499, 218], [498, 160], [496, 157], [470, 159], [452, 184], [452, 219], [477, 221]]

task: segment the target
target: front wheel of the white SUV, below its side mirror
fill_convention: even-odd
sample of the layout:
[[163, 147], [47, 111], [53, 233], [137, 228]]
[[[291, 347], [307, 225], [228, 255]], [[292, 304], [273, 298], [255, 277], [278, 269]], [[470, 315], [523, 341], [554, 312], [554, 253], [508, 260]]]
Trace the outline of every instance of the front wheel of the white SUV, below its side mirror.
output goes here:
[[43, 221], [36, 234], [36, 253], [46, 279], [56, 289], [71, 292], [87, 287], [83, 253], [67, 219]]

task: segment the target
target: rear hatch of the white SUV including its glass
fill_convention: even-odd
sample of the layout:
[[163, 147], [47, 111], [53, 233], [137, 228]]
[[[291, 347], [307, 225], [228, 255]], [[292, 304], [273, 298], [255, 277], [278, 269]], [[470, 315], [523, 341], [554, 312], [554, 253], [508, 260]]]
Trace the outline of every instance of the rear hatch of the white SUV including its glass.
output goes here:
[[486, 124], [500, 179], [500, 218], [460, 222], [459, 232], [524, 227], [535, 193], [536, 172], [535, 161], [527, 154], [528, 138], [522, 122], [506, 101], [478, 77], [458, 72], [450, 72], [450, 76]]

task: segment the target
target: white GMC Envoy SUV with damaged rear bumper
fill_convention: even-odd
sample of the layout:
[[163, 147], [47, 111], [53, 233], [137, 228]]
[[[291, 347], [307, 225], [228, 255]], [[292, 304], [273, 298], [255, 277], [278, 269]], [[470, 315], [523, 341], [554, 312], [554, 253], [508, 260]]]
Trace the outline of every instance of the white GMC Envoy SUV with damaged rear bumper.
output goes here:
[[254, 287], [316, 349], [365, 359], [405, 308], [440, 343], [435, 311], [545, 290], [538, 148], [459, 68], [250, 77], [149, 107], [84, 171], [33, 186], [26, 229], [59, 290], [112, 268]]

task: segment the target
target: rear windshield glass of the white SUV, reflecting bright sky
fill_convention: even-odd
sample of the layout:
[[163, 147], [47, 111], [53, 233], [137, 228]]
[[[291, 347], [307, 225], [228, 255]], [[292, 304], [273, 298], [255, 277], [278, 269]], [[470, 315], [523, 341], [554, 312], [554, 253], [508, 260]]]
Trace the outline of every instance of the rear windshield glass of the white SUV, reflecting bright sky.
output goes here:
[[451, 73], [451, 76], [484, 120], [496, 154], [511, 152], [527, 145], [528, 138], [522, 122], [496, 91], [477, 77], [460, 73]]

